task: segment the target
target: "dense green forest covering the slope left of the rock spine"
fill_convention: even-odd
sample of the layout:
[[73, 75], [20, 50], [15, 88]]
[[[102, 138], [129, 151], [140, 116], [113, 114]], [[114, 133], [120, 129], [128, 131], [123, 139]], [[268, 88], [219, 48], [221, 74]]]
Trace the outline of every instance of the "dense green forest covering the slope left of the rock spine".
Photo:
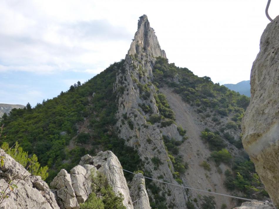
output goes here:
[[[10, 146], [18, 141], [24, 151], [36, 154], [38, 162], [49, 167], [47, 182], [61, 168], [69, 171], [81, 156], [94, 155], [98, 150], [113, 151], [123, 167], [137, 170], [141, 162], [137, 151], [125, 146], [124, 139], [119, 139], [113, 129], [117, 110], [113, 83], [123, 63], [124, 60], [110, 65], [83, 85], [78, 82], [67, 92], [34, 108], [27, 104], [24, 109], [13, 109], [1, 120], [5, 124], [5, 141]], [[85, 122], [87, 133], [78, 134], [78, 128]], [[78, 146], [73, 145], [75, 141]]]

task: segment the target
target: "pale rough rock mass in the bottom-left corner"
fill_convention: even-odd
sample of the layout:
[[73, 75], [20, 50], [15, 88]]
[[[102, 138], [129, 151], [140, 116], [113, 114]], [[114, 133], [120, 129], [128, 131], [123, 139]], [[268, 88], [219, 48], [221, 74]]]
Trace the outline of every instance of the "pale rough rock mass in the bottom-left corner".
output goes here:
[[[0, 156], [4, 157], [4, 166], [0, 170], [0, 190], [6, 188], [6, 198], [1, 204], [3, 209], [59, 209], [54, 194], [40, 176], [31, 176], [26, 169], [11, 156], [0, 149]], [[8, 182], [16, 184], [18, 188], [10, 191]], [[0, 195], [2, 196], [2, 195]]]

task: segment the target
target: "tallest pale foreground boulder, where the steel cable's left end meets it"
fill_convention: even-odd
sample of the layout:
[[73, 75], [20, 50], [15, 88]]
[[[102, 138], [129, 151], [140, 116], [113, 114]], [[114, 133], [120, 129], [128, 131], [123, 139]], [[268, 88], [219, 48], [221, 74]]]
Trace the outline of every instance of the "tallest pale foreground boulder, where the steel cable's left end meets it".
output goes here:
[[122, 171], [122, 166], [118, 158], [111, 151], [99, 152], [97, 156], [91, 157], [85, 155], [81, 158], [80, 165], [93, 165], [99, 172], [105, 174], [108, 184], [112, 186], [113, 191], [123, 194], [123, 204], [127, 209], [133, 209], [132, 200], [129, 194], [129, 188]]

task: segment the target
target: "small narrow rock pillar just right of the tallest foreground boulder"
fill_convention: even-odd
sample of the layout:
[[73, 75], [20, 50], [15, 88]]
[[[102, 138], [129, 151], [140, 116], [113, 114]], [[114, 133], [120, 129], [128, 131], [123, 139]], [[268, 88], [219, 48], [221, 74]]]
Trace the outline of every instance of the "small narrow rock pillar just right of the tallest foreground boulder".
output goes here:
[[130, 185], [130, 196], [133, 201], [134, 209], [151, 209], [143, 175], [137, 173]]

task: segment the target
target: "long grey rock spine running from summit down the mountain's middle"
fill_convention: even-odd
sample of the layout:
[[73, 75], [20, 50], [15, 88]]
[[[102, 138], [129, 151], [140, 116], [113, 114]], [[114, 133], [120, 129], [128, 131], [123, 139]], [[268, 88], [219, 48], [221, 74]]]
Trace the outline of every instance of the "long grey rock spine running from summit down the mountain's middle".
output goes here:
[[[139, 18], [138, 29], [124, 66], [116, 77], [114, 90], [121, 92], [124, 89], [123, 94], [118, 95], [116, 129], [118, 136], [125, 139], [127, 145], [138, 150], [145, 163], [145, 172], [149, 172], [154, 178], [163, 176], [171, 183], [178, 184], [172, 175], [173, 166], [165, 150], [160, 127], [147, 123], [151, 112], [159, 115], [155, 101], [157, 94], [151, 82], [152, 68], [158, 56], [166, 58], [147, 16], [143, 15]], [[172, 137], [175, 139], [175, 136]], [[159, 159], [159, 163], [156, 164], [154, 159]], [[161, 188], [160, 195], [164, 196], [167, 205], [178, 209], [186, 207], [187, 195], [183, 188], [155, 184]], [[169, 191], [170, 195], [165, 195], [165, 191]], [[150, 195], [152, 197], [151, 193]]]

